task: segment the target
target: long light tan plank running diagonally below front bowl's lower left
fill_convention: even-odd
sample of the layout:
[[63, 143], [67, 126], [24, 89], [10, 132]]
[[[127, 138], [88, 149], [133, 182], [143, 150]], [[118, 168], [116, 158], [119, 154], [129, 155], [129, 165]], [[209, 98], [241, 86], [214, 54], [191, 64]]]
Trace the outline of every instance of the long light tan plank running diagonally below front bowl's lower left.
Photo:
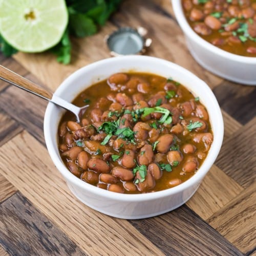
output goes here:
[[[3, 145], [0, 154], [0, 173], [86, 253], [162, 255], [129, 222], [100, 214], [78, 201], [46, 148], [27, 132]], [[22, 172], [8, 172], [6, 166]]]

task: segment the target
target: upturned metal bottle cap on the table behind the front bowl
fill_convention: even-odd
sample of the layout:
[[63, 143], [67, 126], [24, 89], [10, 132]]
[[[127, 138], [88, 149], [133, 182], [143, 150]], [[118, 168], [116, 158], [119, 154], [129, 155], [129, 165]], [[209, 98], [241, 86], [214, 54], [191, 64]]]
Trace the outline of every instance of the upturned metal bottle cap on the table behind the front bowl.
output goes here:
[[125, 27], [112, 33], [106, 38], [106, 44], [112, 56], [143, 54], [152, 43], [151, 38], [145, 38], [147, 30]]

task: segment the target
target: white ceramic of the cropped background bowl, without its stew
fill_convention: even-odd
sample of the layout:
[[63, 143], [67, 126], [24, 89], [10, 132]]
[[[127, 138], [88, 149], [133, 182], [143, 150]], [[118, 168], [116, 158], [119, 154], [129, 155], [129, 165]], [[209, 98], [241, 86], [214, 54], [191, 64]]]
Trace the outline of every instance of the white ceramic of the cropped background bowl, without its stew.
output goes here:
[[230, 81], [256, 86], [256, 57], [232, 54], [210, 44], [187, 23], [181, 0], [172, 0], [172, 5], [187, 47], [203, 68]]

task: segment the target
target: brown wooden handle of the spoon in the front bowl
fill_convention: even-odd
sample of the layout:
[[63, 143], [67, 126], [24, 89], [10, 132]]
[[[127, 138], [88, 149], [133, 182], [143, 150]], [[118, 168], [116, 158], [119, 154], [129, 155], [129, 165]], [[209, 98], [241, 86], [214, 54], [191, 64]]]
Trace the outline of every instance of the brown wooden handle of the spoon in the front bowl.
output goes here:
[[51, 100], [53, 94], [26, 78], [14, 73], [13, 71], [0, 65], [0, 79], [13, 84], [21, 89], [33, 93], [41, 98]]

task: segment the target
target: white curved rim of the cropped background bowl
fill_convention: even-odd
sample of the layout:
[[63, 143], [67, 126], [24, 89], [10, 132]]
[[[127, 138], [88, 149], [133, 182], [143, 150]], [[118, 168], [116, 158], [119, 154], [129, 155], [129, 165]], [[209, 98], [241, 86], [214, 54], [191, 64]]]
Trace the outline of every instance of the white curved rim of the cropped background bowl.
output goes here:
[[187, 19], [182, 9], [182, 4], [181, 4], [182, 0], [171, 0], [171, 1], [172, 1], [172, 6], [173, 6], [173, 10], [174, 10], [177, 22], [179, 23], [184, 34], [189, 36], [190, 39], [193, 39], [201, 47], [221, 57], [224, 57], [233, 61], [237, 61], [237, 62], [256, 64], [256, 57], [247, 57], [247, 56], [242, 56], [242, 55], [237, 55], [234, 53], [227, 52], [225, 50], [222, 50], [210, 44], [208, 41], [200, 37], [187, 23]]

